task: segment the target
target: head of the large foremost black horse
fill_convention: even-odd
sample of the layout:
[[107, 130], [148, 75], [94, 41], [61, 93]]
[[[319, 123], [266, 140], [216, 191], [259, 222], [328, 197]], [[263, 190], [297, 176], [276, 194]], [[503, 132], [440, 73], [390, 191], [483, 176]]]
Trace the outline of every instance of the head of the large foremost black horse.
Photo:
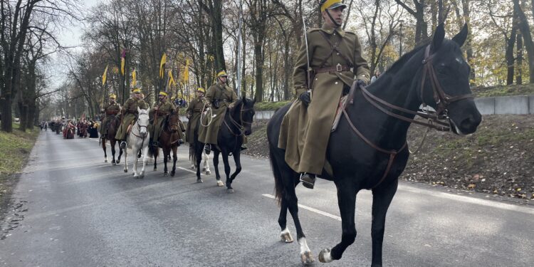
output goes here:
[[444, 37], [441, 23], [429, 46], [423, 49], [422, 77], [417, 81], [419, 98], [440, 115], [448, 116], [454, 133], [466, 135], [475, 132], [481, 122], [469, 87], [471, 68], [461, 51], [467, 38], [467, 25], [451, 40]]

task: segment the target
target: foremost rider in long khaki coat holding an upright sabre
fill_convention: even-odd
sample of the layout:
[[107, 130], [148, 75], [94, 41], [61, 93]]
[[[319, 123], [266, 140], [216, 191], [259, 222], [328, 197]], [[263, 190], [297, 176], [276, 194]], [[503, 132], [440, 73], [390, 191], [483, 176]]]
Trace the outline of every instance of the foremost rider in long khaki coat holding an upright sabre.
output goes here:
[[[300, 173], [300, 181], [310, 189], [315, 175], [321, 174], [325, 166], [340, 97], [355, 80], [358, 85], [367, 85], [370, 76], [356, 33], [341, 28], [346, 7], [341, 0], [320, 1], [323, 27], [306, 31], [307, 40], [300, 47], [293, 71], [298, 100], [283, 118], [278, 141], [278, 147], [286, 150], [286, 162]], [[307, 71], [313, 72], [310, 84]]]

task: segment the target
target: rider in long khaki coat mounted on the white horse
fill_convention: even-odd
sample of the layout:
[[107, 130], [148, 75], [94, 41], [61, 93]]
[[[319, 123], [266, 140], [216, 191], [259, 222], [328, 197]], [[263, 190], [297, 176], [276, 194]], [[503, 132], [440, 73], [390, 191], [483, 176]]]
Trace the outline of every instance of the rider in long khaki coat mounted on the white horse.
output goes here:
[[122, 107], [122, 122], [120, 123], [120, 127], [117, 130], [117, 134], [115, 135], [115, 140], [122, 141], [120, 142], [120, 148], [122, 149], [126, 148], [127, 130], [137, 117], [137, 108], [140, 108], [142, 110], [148, 109], [148, 104], [141, 99], [141, 89], [134, 88], [132, 92], [133, 97], [126, 100], [126, 102], [124, 103], [124, 107]]

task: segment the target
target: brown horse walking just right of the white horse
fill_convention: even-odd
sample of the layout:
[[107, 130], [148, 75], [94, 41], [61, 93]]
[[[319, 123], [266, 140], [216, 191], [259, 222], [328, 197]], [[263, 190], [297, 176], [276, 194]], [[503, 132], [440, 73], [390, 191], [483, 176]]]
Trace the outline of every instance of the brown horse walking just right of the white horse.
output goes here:
[[[178, 131], [180, 130], [178, 112], [171, 112], [171, 114], [167, 115], [162, 127], [163, 130], [161, 135], [159, 135], [159, 145], [163, 150], [163, 175], [167, 176], [169, 174], [167, 170], [167, 161], [171, 157], [172, 150], [171, 176], [174, 177], [174, 173], [176, 173], [176, 161], [178, 159], [177, 148], [179, 146], [180, 139], [178, 134]], [[159, 155], [159, 147], [151, 146], [148, 152], [151, 157], [154, 157], [154, 170], [157, 170], [157, 156]]]

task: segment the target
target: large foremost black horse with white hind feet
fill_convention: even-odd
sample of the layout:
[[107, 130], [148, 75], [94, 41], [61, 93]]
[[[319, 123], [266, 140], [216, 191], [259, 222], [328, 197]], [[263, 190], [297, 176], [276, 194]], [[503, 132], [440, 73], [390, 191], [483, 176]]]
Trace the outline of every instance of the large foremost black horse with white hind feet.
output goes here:
[[[356, 194], [361, 189], [371, 189], [372, 266], [382, 266], [386, 213], [397, 192], [398, 177], [408, 161], [407, 130], [420, 105], [428, 103], [436, 110], [434, 117], [446, 120], [458, 135], [475, 132], [481, 122], [469, 88], [470, 69], [460, 49], [466, 40], [467, 26], [452, 40], [445, 39], [444, 35], [441, 24], [431, 43], [402, 56], [367, 90], [352, 85], [349, 95], [353, 103], [347, 104], [337, 130], [328, 141], [326, 158], [333, 175], [323, 172], [322, 176], [337, 187], [342, 237], [331, 251], [320, 251], [320, 261], [339, 260], [355, 241]], [[267, 127], [276, 198], [281, 204], [278, 224], [282, 229], [281, 239], [293, 241], [286, 227], [289, 209], [297, 230], [301, 261], [309, 263], [313, 256], [300, 226], [295, 195], [299, 175], [286, 164], [285, 151], [278, 148], [278, 133], [288, 108], [278, 110]]]

